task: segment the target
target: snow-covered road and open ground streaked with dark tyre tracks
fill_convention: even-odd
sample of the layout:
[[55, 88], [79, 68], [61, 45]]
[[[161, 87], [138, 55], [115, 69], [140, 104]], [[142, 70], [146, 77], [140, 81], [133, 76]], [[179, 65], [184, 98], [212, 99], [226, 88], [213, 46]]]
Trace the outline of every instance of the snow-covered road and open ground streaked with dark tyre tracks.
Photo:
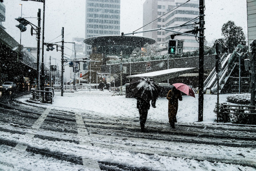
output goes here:
[[186, 114], [173, 130], [155, 116], [165, 112], [160, 98], [146, 133], [136, 101], [110, 93], [66, 93], [53, 105], [1, 104], [0, 170], [256, 170], [255, 127], [212, 124], [209, 108], [208, 123], [189, 122], [193, 100], [180, 102], [178, 115]]

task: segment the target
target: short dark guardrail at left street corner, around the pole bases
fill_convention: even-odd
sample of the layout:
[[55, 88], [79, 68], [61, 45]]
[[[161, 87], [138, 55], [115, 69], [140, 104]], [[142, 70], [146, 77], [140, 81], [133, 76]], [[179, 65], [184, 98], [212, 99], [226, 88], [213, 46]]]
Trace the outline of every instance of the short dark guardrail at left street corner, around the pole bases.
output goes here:
[[31, 89], [33, 101], [39, 101], [41, 103], [51, 103], [54, 97], [54, 89], [53, 88], [45, 88], [46, 91]]

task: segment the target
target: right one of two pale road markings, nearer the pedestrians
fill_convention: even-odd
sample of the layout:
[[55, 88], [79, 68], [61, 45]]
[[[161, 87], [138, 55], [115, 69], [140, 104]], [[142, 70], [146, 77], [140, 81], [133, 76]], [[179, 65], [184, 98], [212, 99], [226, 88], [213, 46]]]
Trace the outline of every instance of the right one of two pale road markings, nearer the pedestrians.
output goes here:
[[[76, 113], [75, 116], [76, 116], [76, 123], [77, 123], [77, 132], [80, 137], [79, 144], [92, 146], [89, 134], [86, 129], [86, 125], [84, 125], [83, 123], [81, 114]], [[101, 170], [99, 168], [98, 162], [93, 159], [83, 157], [82, 163], [84, 166], [89, 166], [90, 168], [93, 168], [93, 170]]]

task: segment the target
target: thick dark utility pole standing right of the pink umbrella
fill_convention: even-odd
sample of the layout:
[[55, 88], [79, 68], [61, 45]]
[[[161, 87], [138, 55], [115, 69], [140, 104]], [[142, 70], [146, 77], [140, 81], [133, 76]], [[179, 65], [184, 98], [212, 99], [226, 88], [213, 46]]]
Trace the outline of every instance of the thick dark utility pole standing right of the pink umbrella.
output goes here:
[[199, 96], [198, 96], [198, 121], [203, 121], [204, 108], [204, 0], [199, 0]]

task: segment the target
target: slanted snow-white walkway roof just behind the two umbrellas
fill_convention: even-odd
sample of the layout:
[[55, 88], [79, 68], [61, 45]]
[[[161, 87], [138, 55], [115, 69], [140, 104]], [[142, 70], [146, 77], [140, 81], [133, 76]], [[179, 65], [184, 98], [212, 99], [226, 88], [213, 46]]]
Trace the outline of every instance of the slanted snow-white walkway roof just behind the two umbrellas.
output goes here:
[[161, 70], [161, 71], [155, 71], [155, 72], [148, 72], [143, 74], [136, 74], [136, 75], [130, 75], [126, 76], [128, 79], [132, 79], [135, 77], [144, 77], [144, 78], [152, 78], [156, 82], [161, 82], [170, 78], [178, 77], [179, 75], [190, 73], [191, 71], [194, 71], [196, 68], [172, 68], [168, 70]]

